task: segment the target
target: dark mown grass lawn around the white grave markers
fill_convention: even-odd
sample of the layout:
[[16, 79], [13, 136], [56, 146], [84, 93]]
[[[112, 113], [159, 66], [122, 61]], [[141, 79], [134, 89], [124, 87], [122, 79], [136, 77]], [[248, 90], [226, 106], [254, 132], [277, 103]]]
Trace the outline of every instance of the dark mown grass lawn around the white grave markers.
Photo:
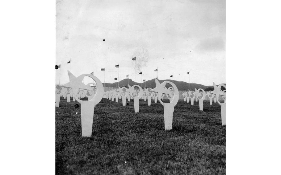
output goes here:
[[225, 174], [225, 126], [217, 103], [204, 101], [199, 111], [199, 101], [191, 106], [179, 100], [173, 129], [165, 131], [159, 101], [149, 107], [140, 99], [134, 113], [133, 100], [122, 106], [122, 99], [103, 98], [94, 109], [91, 137], [81, 136], [81, 108], [74, 104], [61, 97], [56, 108], [56, 174]]

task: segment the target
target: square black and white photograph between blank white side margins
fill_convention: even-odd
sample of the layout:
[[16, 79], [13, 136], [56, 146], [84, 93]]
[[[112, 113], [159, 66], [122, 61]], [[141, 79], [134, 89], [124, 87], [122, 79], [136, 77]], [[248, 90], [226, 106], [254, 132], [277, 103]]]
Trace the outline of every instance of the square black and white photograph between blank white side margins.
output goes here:
[[225, 174], [225, 0], [56, 6], [56, 174]]

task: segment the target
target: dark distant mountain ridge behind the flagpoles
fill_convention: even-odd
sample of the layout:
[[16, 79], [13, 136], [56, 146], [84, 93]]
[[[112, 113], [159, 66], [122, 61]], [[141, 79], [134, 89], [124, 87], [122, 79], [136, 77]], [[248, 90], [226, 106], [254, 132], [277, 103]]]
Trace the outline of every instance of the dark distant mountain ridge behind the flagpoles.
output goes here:
[[[160, 83], [162, 83], [163, 81], [170, 81], [170, 82], [173, 82], [173, 80], [171, 80], [171, 79], [164, 79], [164, 80], [158, 79], [158, 81], [159, 81]], [[119, 86], [120, 86], [120, 87], [123, 87], [123, 86], [128, 87], [128, 84], [129, 84], [130, 86], [133, 86], [133, 85], [135, 85], [135, 84], [141, 86], [141, 83], [136, 83], [136, 82], [133, 81], [132, 79], [128, 79], [128, 78], [123, 79], [123, 80], [121, 80], [121, 81], [119, 82]], [[179, 91], [188, 91], [188, 89], [189, 89], [189, 83], [187, 83], [187, 82], [174, 80], [174, 84], [177, 86], [177, 88], [178, 88]], [[104, 85], [104, 83], [103, 83], [103, 85]], [[167, 86], [169, 87], [169, 85], [170, 85], [170, 84], [168, 84]], [[219, 84], [217, 84], [217, 85], [219, 85]], [[105, 87], [116, 88], [116, 87], [118, 87], [118, 82], [116, 82], [116, 83], [105, 83]], [[143, 83], [142, 83], [142, 87], [143, 87], [143, 88], [155, 88], [155, 87], [156, 87], [155, 80], [154, 80], [154, 79], [151, 79], [151, 80], [148, 80], [148, 81], [143, 82]], [[208, 88], [208, 89], [213, 88], [213, 86], [212, 86], [212, 85], [211, 85], [211, 86], [205, 86], [205, 85], [202, 85], [202, 84], [190, 83], [190, 90], [191, 90], [191, 91], [194, 91], [195, 88], [196, 88], [196, 89], [202, 88], [202, 89], [205, 90], [206, 88]]]

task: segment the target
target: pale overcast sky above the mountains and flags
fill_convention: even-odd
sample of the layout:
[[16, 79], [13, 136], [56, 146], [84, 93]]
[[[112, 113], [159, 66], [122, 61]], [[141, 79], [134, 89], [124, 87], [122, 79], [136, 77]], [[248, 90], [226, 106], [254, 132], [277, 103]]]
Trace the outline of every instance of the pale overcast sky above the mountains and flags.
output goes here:
[[[102, 82], [172, 79], [225, 82], [225, 0], [57, 0], [56, 83], [94, 72]], [[105, 39], [105, 41], [103, 41]], [[142, 60], [142, 61], [140, 61]], [[84, 83], [87, 83], [85, 79]]]

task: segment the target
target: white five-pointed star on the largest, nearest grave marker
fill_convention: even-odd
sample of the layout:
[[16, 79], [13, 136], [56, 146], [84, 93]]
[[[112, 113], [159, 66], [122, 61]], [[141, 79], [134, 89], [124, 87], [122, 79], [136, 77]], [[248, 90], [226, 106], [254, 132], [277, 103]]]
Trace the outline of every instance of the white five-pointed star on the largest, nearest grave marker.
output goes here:
[[65, 88], [72, 88], [73, 92], [77, 93], [78, 89], [84, 89], [84, 90], [90, 90], [88, 86], [86, 86], [84, 83], [82, 83], [82, 80], [84, 79], [84, 75], [80, 75], [78, 77], [75, 77], [73, 74], [71, 74], [68, 71], [69, 79], [70, 81], [64, 85], [62, 85]]

